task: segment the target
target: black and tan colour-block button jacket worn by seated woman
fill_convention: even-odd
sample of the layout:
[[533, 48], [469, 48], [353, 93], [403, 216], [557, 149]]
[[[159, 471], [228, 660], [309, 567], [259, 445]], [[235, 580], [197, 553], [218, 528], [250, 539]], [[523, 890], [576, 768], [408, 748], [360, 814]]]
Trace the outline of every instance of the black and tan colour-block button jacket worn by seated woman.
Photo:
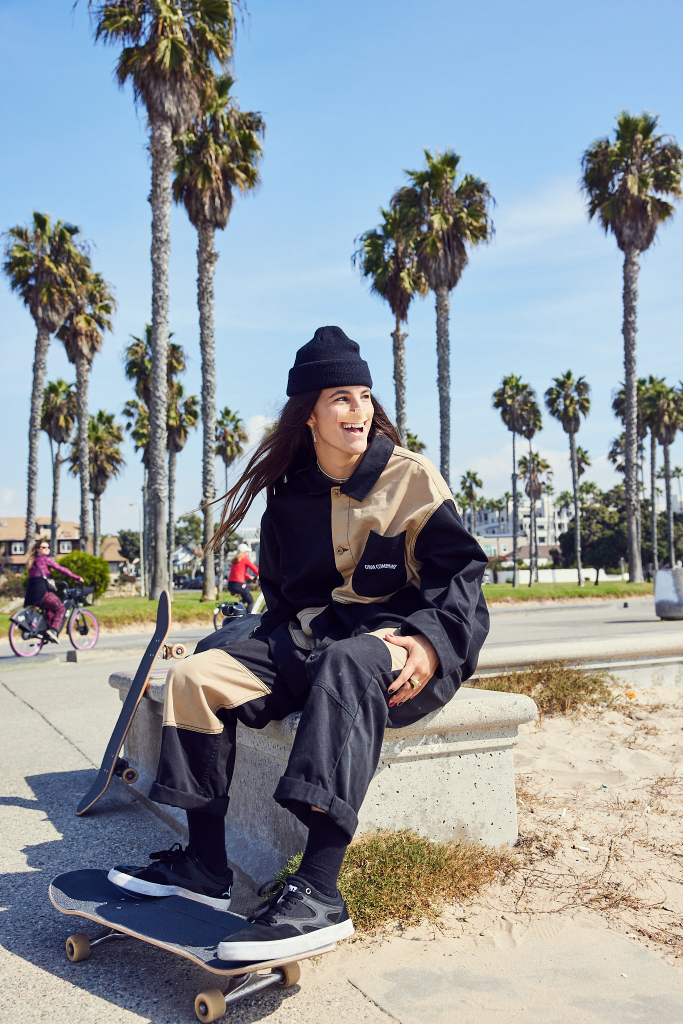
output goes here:
[[313, 460], [268, 502], [259, 557], [267, 611], [256, 635], [269, 638], [281, 672], [300, 687], [300, 670], [288, 673], [295, 648], [300, 666], [302, 649], [360, 633], [423, 634], [439, 668], [399, 706], [415, 720], [476, 668], [488, 632], [486, 561], [436, 468], [379, 434], [345, 483], [332, 483]]

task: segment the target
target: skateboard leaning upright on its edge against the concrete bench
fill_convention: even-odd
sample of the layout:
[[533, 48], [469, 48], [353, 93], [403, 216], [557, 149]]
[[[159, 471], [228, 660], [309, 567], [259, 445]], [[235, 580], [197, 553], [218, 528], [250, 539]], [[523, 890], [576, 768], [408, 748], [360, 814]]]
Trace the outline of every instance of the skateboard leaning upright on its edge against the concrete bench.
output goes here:
[[124, 739], [126, 738], [130, 728], [130, 723], [133, 721], [133, 716], [137, 711], [137, 706], [142, 699], [144, 691], [147, 688], [150, 674], [152, 673], [160, 649], [162, 656], [165, 658], [182, 657], [185, 653], [185, 648], [182, 644], [166, 643], [166, 637], [168, 636], [170, 628], [171, 600], [168, 591], [164, 590], [159, 598], [155, 634], [147, 644], [147, 649], [142, 655], [142, 660], [138, 666], [135, 678], [133, 679], [130, 689], [128, 690], [126, 699], [124, 700], [121, 714], [119, 715], [119, 720], [114, 727], [114, 732], [112, 733], [112, 738], [106, 744], [104, 757], [102, 758], [100, 769], [97, 772], [97, 778], [76, 808], [76, 813], [79, 817], [82, 814], [85, 814], [86, 811], [89, 811], [92, 805], [99, 800], [112, 781], [112, 775], [118, 775], [129, 785], [132, 782], [137, 781], [137, 772], [134, 768], [130, 767], [127, 761], [124, 761], [123, 758], [119, 757], [119, 752], [123, 746]]

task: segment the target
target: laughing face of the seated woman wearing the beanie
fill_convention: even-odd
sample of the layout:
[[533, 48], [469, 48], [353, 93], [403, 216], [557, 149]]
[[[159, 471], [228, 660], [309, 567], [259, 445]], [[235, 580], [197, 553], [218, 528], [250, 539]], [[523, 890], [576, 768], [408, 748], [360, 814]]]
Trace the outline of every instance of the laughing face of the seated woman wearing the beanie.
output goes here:
[[373, 422], [373, 400], [369, 387], [328, 387], [321, 391], [307, 421], [317, 441], [318, 460], [348, 462], [368, 447]]

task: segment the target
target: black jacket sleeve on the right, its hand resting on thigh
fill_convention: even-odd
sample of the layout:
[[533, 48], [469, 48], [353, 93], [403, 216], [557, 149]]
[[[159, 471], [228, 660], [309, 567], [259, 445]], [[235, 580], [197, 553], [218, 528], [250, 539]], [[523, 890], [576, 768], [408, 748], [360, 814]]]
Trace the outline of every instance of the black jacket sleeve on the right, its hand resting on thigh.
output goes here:
[[469, 679], [488, 633], [481, 579], [488, 562], [467, 532], [453, 501], [443, 502], [418, 535], [415, 557], [422, 562], [424, 607], [405, 620], [404, 635], [422, 633], [439, 659], [436, 678]]

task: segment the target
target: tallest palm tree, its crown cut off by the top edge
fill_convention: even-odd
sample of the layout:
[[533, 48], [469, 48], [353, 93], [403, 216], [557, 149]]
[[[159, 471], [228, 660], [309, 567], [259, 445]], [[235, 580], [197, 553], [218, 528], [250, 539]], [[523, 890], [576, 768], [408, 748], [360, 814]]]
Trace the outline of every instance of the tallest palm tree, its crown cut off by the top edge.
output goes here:
[[147, 113], [152, 154], [152, 395], [150, 486], [154, 522], [152, 600], [168, 577], [166, 449], [168, 261], [174, 135], [182, 135], [213, 92], [211, 61], [227, 70], [232, 55], [231, 0], [88, 0], [95, 38], [123, 44], [116, 68]]

